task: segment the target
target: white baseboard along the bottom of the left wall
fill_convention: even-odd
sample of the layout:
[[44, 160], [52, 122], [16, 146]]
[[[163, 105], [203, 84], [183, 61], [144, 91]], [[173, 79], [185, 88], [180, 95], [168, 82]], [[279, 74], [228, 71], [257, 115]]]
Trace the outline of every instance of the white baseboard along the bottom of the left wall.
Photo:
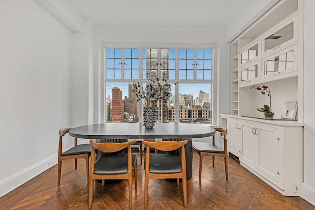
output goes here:
[[[57, 154], [47, 157], [46, 159], [4, 179], [0, 180], [0, 197], [21, 186], [25, 182], [32, 180], [37, 175], [57, 164]], [[56, 174], [57, 177], [57, 174]]]

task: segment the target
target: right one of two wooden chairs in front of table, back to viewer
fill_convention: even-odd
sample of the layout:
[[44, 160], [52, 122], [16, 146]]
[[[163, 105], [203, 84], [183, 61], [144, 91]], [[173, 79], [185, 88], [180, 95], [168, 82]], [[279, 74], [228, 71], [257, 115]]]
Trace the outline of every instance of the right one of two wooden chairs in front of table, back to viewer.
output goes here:
[[[144, 182], [144, 208], [148, 205], [149, 179], [182, 179], [184, 206], [187, 207], [187, 175], [185, 148], [188, 140], [184, 141], [161, 141], [142, 143], [147, 146], [145, 154], [145, 182]], [[181, 154], [176, 153], [150, 153], [150, 148], [159, 151], [172, 151], [181, 148]]]

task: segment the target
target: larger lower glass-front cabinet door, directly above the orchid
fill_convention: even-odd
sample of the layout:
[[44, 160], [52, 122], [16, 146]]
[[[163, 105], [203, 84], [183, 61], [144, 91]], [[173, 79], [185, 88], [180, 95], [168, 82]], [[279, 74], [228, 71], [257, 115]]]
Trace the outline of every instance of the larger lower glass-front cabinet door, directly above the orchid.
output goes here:
[[271, 77], [297, 70], [297, 44], [262, 60], [262, 77]]

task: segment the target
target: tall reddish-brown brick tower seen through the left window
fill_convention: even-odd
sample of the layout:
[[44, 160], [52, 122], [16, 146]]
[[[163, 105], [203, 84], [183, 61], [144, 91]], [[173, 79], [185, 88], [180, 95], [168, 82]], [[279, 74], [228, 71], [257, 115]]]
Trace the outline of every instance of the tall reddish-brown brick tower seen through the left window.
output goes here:
[[123, 91], [119, 88], [112, 89], [112, 121], [124, 122]]

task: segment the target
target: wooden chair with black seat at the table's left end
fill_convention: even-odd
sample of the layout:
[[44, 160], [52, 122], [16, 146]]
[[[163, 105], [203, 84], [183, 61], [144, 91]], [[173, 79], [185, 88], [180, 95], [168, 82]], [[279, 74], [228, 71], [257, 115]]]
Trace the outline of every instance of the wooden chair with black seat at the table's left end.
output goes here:
[[71, 128], [62, 128], [59, 130], [59, 148], [58, 148], [58, 185], [61, 179], [62, 161], [66, 159], [74, 159], [74, 168], [77, 169], [77, 158], [84, 158], [86, 164], [87, 180], [89, 182], [89, 157], [91, 156], [92, 145], [78, 145], [77, 138], [74, 138], [74, 147], [63, 152], [63, 136], [69, 132]]

